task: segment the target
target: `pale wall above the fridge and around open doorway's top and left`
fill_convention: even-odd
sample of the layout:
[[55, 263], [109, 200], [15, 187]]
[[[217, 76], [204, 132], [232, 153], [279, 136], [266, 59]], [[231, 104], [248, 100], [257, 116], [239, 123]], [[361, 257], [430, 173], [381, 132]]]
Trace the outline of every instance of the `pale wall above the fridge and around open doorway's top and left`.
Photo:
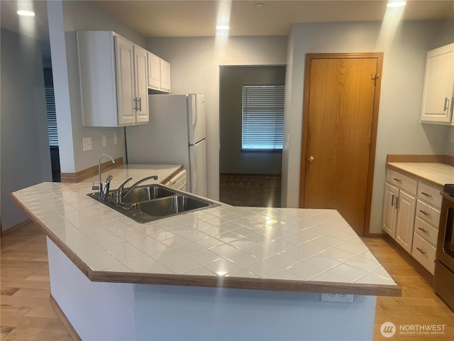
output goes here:
[[287, 37], [148, 38], [147, 49], [170, 62], [172, 94], [199, 93], [206, 102], [208, 196], [219, 197], [219, 66], [285, 65]]

